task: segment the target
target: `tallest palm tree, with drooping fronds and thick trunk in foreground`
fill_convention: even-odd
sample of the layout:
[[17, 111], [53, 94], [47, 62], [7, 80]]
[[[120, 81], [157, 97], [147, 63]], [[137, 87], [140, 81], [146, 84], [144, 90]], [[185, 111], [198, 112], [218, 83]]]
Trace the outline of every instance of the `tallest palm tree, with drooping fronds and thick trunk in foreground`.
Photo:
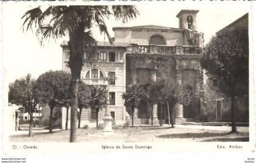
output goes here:
[[[50, 6], [42, 11], [40, 7], [28, 10], [21, 19], [24, 19], [23, 30], [36, 28], [36, 34], [41, 42], [46, 38], [59, 39], [69, 36], [69, 62], [71, 81], [71, 129], [69, 142], [76, 141], [77, 122], [77, 91], [80, 73], [84, 60], [93, 61], [97, 53], [97, 42], [91, 36], [91, 28], [98, 25], [100, 32], [107, 34], [110, 43], [112, 40], [105, 25], [105, 19], [115, 16], [116, 20], [127, 22], [136, 18], [138, 10], [133, 5], [69, 5]], [[33, 31], [33, 30], [32, 30]]]

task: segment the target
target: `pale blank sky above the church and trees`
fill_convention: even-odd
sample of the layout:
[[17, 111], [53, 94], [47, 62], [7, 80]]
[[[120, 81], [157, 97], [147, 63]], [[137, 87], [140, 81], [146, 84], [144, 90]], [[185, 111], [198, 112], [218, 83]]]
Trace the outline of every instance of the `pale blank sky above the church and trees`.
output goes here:
[[[62, 48], [60, 42], [68, 40], [50, 40], [41, 47], [37, 37], [32, 32], [23, 32], [21, 16], [29, 9], [38, 7], [46, 8], [50, 3], [41, 2], [4, 2], [2, 5], [2, 60], [5, 82], [10, 83], [15, 79], [23, 78], [30, 73], [37, 78], [48, 70], [62, 69]], [[90, 4], [90, 3], [87, 3]], [[109, 4], [109, 2], [108, 2]], [[114, 36], [113, 27], [135, 25], [162, 25], [166, 27], [179, 27], [177, 13], [182, 9], [200, 10], [197, 13], [197, 30], [204, 33], [205, 44], [218, 30], [226, 27], [247, 12], [251, 13], [250, 2], [240, 1], [151, 1], [133, 2], [137, 5], [140, 15], [137, 19], [126, 24], [116, 22], [110, 18], [107, 28]], [[94, 38], [98, 41], [108, 41], [107, 37], [92, 30]]]

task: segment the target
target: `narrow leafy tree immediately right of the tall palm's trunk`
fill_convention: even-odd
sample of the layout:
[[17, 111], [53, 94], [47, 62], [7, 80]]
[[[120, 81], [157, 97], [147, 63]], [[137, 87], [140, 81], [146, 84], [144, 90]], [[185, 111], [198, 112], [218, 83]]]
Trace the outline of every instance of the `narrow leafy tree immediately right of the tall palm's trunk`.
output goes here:
[[90, 87], [84, 82], [79, 83], [77, 97], [78, 97], [78, 108], [79, 108], [79, 119], [78, 119], [78, 128], [80, 128], [81, 115], [83, 108], [88, 108], [88, 104], [91, 98]]

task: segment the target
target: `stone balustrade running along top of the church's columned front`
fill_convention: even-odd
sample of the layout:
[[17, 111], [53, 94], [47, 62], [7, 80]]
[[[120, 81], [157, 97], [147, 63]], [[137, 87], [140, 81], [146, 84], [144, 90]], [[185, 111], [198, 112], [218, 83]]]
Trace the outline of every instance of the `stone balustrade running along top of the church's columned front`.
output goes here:
[[174, 55], [174, 54], [202, 54], [202, 48], [198, 46], [166, 46], [166, 45], [138, 45], [131, 44], [127, 47], [127, 50], [133, 53], [158, 53], [162, 55]]

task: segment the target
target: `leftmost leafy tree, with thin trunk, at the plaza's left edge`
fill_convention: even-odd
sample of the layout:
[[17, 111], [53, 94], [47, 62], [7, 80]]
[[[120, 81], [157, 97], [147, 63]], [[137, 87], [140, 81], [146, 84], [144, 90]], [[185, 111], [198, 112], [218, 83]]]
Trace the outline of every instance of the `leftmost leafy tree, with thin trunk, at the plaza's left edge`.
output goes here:
[[29, 113], [29, 136], [32, 136], [33, 112], [39, 103], [35, 92], [35, 80], [30, 74], [9, 84], [9, 102], [24, 107]]

